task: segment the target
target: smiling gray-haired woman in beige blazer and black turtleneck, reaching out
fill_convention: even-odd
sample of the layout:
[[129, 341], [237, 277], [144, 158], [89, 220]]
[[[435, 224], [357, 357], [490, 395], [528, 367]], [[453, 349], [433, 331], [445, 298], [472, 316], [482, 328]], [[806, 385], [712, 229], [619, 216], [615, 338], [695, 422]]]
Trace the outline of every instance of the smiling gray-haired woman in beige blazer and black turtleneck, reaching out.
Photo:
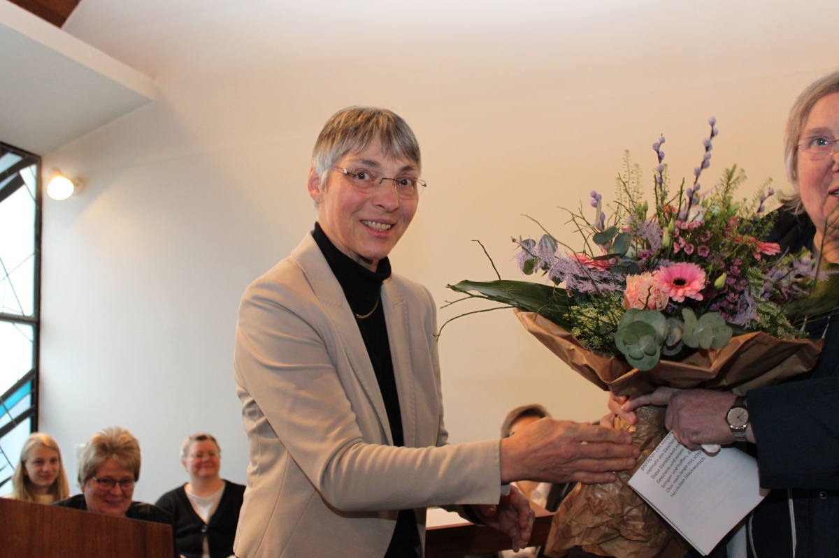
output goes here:
[[502, 530], [533, 523], [523, 479], [609, 482], [633, 467], [625, 432], [539, 421], [504, 440], [447, 443], [435, 303], [391, 273], [426, 183], [420, 146], [392, 111], [350, 107], [315, 142], [317, 221], [242, 296], [234, 370], [248, 432], [239, 558], [417, 558], [425, 509]]

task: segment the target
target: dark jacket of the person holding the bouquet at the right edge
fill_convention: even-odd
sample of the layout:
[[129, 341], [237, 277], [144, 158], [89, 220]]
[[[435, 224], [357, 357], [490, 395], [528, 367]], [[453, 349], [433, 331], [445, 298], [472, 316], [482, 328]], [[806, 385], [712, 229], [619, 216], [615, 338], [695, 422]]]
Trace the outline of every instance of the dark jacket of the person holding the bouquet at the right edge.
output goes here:
[[[806, 215], [781, 212], [767, 240], [797, 251], [815, 232]], [[825, 338], [816, 367], [746, 394], [760, 486], [772, 488], [749, 521], [749, 558], [839, 555], [839, 316], [808, 331]], [[711, 556], [726, 556], [724, 546]]]

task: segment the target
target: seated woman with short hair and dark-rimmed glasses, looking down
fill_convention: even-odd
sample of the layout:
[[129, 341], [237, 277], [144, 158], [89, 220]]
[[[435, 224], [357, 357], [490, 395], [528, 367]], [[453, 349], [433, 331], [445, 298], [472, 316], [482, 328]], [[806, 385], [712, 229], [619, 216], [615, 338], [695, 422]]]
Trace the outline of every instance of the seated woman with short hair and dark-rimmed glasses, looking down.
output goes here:
[[134, 484], [139, 478], [140, 444], [137, 438], [125, 428], [112, 426], [96, 432], [81, 450], [81, 494], [55, 505], [172, 524], [172, 516], [164, 510], [152, 504], [132, 501]]

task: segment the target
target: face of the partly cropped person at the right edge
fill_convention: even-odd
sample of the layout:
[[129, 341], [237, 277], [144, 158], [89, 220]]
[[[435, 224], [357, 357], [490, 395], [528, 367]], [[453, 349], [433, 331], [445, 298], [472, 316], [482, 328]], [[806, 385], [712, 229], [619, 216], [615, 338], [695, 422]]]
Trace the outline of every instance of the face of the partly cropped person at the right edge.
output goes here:
[[[810, 110], [800, 142], [813, 137], [825, 137], [828, 140], [839, 138], [839, 93], [822, 97]], [[825, 259], [839, 262], [839, 233], [836, 225], [831, 226], [831, 223], [839, 219], [839, 152], [821, 158], [800, 153], [798, 183], [801, 203], [816, 225], [816, 250], [821, 248], [824, 240]]]

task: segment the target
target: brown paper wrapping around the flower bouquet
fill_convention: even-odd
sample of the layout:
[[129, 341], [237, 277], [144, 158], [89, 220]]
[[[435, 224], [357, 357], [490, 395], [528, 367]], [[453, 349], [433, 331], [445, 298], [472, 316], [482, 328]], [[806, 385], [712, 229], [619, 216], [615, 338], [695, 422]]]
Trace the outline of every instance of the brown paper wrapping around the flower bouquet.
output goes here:
[[[571, 333], [532, 312], [515, 310], [524, 328], [579, 374], [615, 395], [640, 395], [659, 385], [717, 388], [743, 395], [811, 369], [821, 352], [821, 339], [782, 340], [766, 333], [732, 338], [725, 349], [697, 350], [676, 362], [661, 360], [653, 369], [638, 370], [618, 357], [605, 358], [584, 348]], [[667, 434], [664, 408], [636, 411], [638, 424], [619, 417], [615, 426], [633, 432], [641, 457], [631, 471], [618, 473], [609, 484], [578, 485], [554, 515], [545, 555], [565, 556], [571, 548], [618, 558], [682, 558], [690, 545], [629, 488], [629, 478]]]

